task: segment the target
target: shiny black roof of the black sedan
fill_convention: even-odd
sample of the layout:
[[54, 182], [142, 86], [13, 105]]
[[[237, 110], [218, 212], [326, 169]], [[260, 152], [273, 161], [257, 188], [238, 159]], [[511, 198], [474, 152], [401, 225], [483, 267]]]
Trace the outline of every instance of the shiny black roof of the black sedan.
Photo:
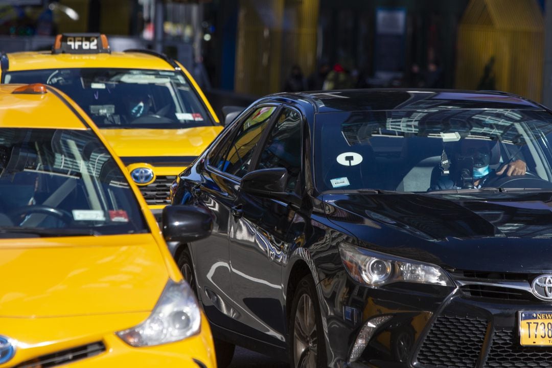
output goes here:
[[528, 99], [497, 91], [406, 88], [349, 89], [281, 93], [272, 96], [310, 102], [315, 106], [317, 113], [427, 109], [545, 109]]

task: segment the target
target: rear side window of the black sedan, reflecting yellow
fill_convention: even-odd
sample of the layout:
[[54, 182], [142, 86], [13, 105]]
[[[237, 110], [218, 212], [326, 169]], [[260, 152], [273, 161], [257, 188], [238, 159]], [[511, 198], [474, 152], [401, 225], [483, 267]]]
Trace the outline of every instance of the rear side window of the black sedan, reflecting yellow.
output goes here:
[[210, 165], [238, 178], [243, 177], [249, 169], [253, 152], [261, 139], [263, 130], [275, 110], [276, 106], [263, 106], [256, 109], [241, 123], [235, 136], [222, 146], [220, 155], [209, 159]]

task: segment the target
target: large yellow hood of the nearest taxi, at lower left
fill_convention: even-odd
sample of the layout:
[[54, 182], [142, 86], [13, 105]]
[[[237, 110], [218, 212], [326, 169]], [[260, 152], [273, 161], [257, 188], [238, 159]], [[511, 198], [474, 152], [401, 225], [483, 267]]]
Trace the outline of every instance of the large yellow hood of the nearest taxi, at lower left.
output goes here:
[[0, 239], [0, 318], [153, 310], [167, 284], [152, 234]]

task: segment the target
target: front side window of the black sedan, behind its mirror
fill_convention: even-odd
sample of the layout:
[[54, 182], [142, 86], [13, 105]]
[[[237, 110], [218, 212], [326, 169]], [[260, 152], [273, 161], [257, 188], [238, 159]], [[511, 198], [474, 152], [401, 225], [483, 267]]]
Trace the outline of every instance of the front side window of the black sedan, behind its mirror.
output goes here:
[[288, 169], [288, 190], [293, 191], [301, 168], [301, 115], [283, 109], [259, 159], [259, 169], [284, 167]]

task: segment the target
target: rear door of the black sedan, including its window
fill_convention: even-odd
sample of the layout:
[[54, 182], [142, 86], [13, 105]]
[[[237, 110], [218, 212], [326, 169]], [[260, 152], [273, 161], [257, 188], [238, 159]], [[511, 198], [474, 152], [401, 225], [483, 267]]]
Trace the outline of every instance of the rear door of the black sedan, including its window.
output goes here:
[[231, 297], [228, 239], [237, 188], [276, 109], [255, 108], [222, 136], [206, 157], [201, 179], [190, 190], [194, 202], [214, 215], [211, 236], [192, 243], [192, 257], [204, 310], [210, 321], [221, 327], [231, 328], [238, 313]]

